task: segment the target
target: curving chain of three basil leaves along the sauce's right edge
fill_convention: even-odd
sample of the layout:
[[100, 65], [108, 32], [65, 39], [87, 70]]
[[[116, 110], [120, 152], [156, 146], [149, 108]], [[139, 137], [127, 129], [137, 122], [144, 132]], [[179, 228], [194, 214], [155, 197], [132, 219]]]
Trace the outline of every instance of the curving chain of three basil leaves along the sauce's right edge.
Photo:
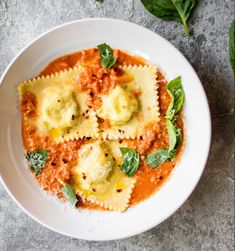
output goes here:
[[184, 90], [181, 84], [181, 78], [177, 77], [176, 79], [170, 81], [166, 88], [171, 96], [171, 103], [165, 116], [169, 137], [169, 147], [161, 148], [147, 156], [145, 162], [152, 168], [157, 168], [163, 162], [173, 161], [176, 149], [182, 141], [181, 129], [175, 123], [175, 120], [178, 118], [176, 114], [182, 108], [184, 103]]

